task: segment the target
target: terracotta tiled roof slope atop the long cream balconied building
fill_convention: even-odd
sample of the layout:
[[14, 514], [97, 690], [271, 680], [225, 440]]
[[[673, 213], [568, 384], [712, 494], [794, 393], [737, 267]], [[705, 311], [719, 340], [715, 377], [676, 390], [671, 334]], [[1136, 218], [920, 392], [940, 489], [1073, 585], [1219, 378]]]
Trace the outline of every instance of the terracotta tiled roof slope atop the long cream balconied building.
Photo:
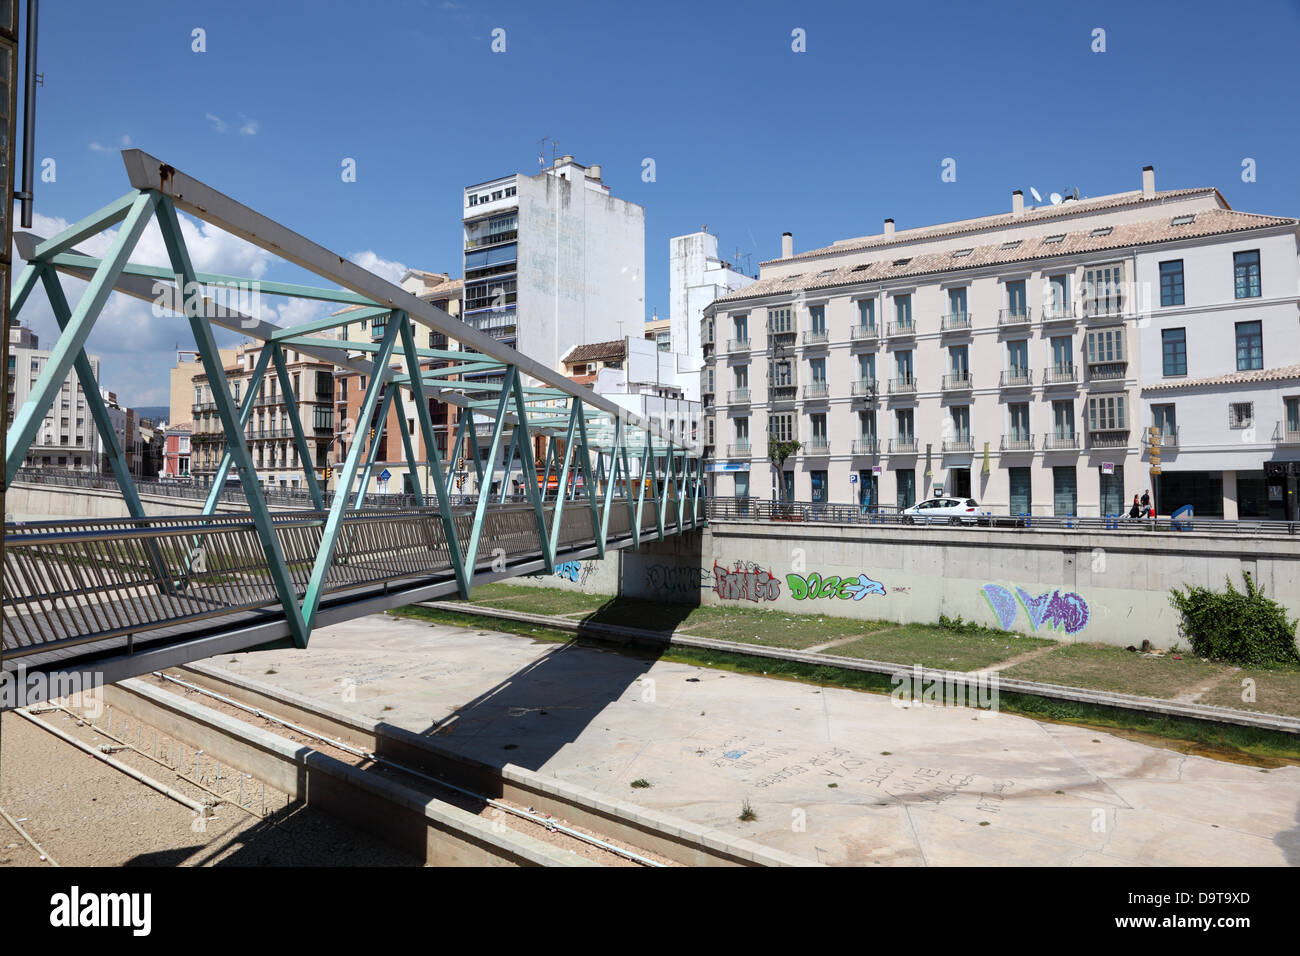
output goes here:
[[[907, 278], [941, 272], [959, 272], [982, 265], [1005, 265], [1009, 263], [1032, 261], [1035, 259], [1054, 259], [1057, 256], [1080, 252], [1104, 252], [1106, 250], [1132, 248], [1157, 242], [1173, 242], [1204, 235], [1262, 229], [1266, 226], [1296, 226], [1300, 220], [1279, 216], [1260, 216], [1235, 209], [1201, 209], [1196, 220], [1187, 225], [1171, 225], [1171, 217], [1164, 216], [1144, 222], [1115, 222], [1105, 235], [1093, 235], [1096, 229], [1089, 225], [1076, 233], [1065, 233], [1058, 242], [1048, 242], [1048, 235], [1034, 235], [1019, 241], [1014, 248], [1004, 248], [1006, 242], [988, 246], [972, 246], [968, 254], [954, 258], [953, 251], [927, 252], [907, 259], [880, 259], [858, 265], [803, 272], [796, 276], [760, 278], [753, 285], [723, 295], [718, 302], [740, 302], [764, 295], [780, 295], [797, 290], [833, 289], [836, 286], [878, 282], [881, 280]], [[965, 252], [965, 250], [961, 250]], [[898, 263], [898, 264], [896, 264]]]

